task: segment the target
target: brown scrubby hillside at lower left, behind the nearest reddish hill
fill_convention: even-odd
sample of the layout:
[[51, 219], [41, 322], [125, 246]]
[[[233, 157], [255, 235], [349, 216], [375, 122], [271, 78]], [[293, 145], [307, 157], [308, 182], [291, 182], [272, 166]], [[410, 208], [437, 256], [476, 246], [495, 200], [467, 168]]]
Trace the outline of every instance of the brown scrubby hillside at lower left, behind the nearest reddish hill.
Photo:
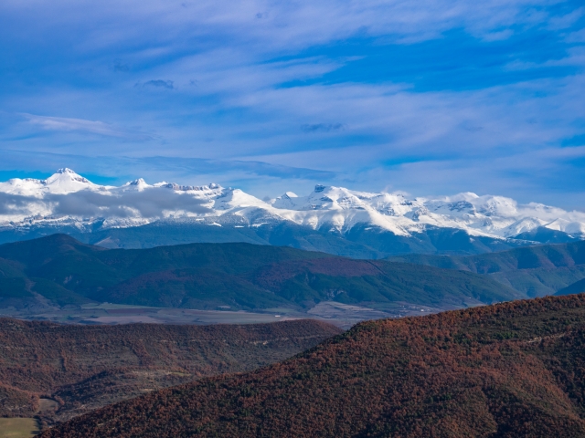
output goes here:
[[312, 319], [253, 325], [74, 326], [0, 318], [0, 417], [63, 421], [147, 391], [253, 370], [340, 333]]

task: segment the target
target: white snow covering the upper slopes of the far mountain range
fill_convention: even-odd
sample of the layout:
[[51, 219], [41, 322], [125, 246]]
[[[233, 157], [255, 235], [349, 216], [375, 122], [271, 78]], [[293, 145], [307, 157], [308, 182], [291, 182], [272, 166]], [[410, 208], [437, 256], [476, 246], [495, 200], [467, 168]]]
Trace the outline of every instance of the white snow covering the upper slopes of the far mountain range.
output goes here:
[[439, 227], [493, 238], [546, 227], [585, 238], [583, 213], [475, 193], [408, 199], [402, 194], [316, 185], [307, 196], [287, 192], [267, 203], [213, 183], [150, 185], [141, 178], [119, 187], [103, 186], [70, 169], [59, 169], [47, 180], [0, 183], [0, 226], [4, 229], [58, 224], [130, 227], [165, 219], [239, 227], [291, 222], [340, 234], [359, 224], [403, 236]]

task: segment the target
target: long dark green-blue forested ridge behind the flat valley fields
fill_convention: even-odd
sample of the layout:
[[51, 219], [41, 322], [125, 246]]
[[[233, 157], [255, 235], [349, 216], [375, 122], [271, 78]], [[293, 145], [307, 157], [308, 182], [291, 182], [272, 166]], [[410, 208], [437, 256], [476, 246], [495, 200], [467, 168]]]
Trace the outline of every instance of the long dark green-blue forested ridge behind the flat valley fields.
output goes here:
[[333, 302], [396, 310], [398, 316], [404, 304], [464, 308], [518, 297], [510, 287], [470, 272], [290, 247], [190, 244], [108, 250], [68, 235], [0, 245], [0, 311], [21, 315], [90, 302], [302, 313]]

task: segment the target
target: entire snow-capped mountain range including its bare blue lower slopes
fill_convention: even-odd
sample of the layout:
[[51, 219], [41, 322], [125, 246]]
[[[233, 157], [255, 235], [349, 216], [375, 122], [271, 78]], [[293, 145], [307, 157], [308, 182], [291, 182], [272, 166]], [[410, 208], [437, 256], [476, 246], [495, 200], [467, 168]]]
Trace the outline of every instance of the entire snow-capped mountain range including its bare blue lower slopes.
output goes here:
[[102, 186], [69, 169], [0, 183], [0, 242], [53, 233], [106, 247], [248, 242], [382, 258], [580, 240], [585, 214], [501, 196], [408, 199], [324, 185], [265, 202], [217, 184]]

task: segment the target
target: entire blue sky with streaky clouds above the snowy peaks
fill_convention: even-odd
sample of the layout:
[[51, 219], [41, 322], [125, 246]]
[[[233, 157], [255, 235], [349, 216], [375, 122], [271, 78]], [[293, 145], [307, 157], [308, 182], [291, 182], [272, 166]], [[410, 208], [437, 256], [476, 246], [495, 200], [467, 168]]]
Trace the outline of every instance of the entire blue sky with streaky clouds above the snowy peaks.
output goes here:
[[580, 1], [0, 3], [0, 179], [585, 210]]

